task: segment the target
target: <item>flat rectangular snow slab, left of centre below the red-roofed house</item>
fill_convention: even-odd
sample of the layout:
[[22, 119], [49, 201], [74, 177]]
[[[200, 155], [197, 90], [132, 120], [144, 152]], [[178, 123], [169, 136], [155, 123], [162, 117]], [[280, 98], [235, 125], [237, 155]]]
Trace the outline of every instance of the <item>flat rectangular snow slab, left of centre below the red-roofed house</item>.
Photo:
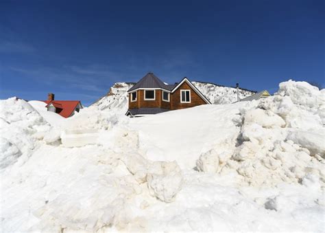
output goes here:
[[75, 147], [96, 144], [98, 133], [95, 129], [65, 130], [61, 134], [63, 146]]

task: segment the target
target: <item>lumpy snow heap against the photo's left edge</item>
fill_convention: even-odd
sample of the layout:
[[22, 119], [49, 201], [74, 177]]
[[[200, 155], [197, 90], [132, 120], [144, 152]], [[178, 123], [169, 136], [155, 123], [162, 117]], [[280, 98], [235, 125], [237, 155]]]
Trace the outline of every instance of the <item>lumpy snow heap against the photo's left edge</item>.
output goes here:
[[0, 100], [1, 168], [24, 162], [51, 127], [25, 100]]

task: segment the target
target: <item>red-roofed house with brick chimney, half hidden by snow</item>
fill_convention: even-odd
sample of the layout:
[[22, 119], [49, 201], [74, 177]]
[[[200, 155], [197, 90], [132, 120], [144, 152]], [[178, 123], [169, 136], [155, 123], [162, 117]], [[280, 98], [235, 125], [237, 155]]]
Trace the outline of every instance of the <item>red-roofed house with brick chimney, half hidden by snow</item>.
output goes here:
[[80, 100], [54, 100], [53, 93], [49, 93], [44, 102], [47, 103], [45, 106], [47, 111], [58, 113], [64, 118], [70, 118], [75, 112], [79, 112], [83, 108]]

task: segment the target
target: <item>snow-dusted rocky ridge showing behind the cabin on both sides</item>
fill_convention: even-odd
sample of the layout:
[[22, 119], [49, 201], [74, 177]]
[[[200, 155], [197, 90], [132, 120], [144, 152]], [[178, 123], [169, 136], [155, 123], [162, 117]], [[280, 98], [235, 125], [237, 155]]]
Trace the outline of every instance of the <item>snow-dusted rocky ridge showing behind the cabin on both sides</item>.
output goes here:
[[[213, 104], [230, 104], [237, 101], [236, 87], [224, 87], [210, 82], [192, 82], [208, 100]], [[120, 109], [121, 111], [128, 110], [128, 89], [133, 87], [135, 82], [116, 82], [110, 91], [105, 96], [96, 100], [90, 107], [95, 107], [99, 110], [105, 109]], [[256, 91], [239, 88], [239, 98], [251, 96]]]

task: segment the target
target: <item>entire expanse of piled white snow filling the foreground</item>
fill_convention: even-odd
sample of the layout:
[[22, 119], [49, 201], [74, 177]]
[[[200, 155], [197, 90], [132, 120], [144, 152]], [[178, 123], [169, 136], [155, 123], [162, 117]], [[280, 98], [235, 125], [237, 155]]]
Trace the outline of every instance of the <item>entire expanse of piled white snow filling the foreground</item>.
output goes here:
[[56, 119], [0, 100], [3, 232], [324, 232], [324, 89], [145, 118], [123, 101]]

